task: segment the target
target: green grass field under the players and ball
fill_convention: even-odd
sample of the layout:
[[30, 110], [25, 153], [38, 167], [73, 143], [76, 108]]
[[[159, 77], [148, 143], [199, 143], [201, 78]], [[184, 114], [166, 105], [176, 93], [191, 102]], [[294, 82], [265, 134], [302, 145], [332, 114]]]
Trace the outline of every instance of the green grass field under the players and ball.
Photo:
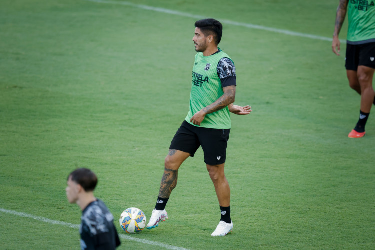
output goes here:
[[[99, 177], [95, 195], [116, 218], [119, 249], [375, 249], [375, 118], [365, 137], [347, 138], [360, 97], [346, 79], [345, 44], [338, 57], [318, 38], [331, 37], [337, 5], [2, 0], [0, 248], [79, 248], [68, 225], [80, 223], [81, 211], [64, 189], [69, 172], [88, 167]], [[234, 229], [210, 236], [219, 207], [200, 149], [180, 168], [168, 221], [128, 235], [119, 215], [138, 207], [150, 216], [188, 111], [200, 16], [222, 20], [236, 104], [253, 109], [232, 116]]]

